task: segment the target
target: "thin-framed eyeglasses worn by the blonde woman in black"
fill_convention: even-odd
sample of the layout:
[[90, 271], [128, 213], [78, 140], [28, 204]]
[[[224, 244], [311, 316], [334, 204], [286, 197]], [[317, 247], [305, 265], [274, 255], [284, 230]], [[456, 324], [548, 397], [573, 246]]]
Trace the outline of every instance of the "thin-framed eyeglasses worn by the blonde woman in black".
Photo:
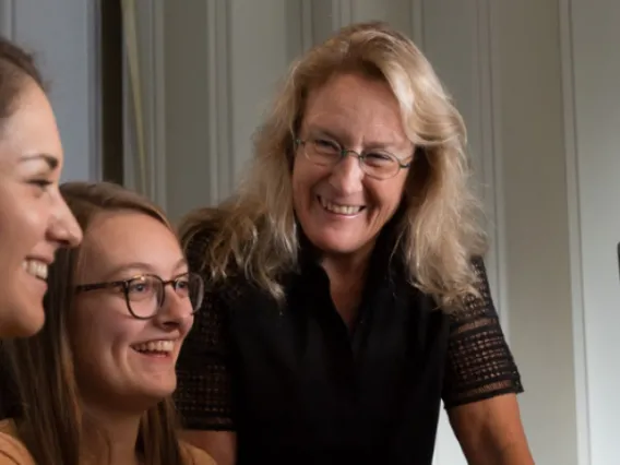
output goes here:
[[398, 174], [403, 168], [408, 168], [412, 164], [402, 163], [395, 155], [373, 151], [359, 154], [355, 151], [343, 148], [336, 142], [326, 139], [296, 139], [295, 144], [303, 147], [303, 155], [310, 162], [319, 166], [335, 166], [347, 155], [354, 155], [359, 160], [362, 171], [375, 179], [390, 179]]

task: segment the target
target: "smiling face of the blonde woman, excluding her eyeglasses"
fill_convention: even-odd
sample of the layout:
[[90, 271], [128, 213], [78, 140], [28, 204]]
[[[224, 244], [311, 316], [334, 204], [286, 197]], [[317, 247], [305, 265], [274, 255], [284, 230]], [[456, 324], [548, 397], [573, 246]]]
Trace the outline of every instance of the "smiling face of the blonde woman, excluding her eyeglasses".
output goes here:
[[[336, 75], [309, 94], [299, 138], [357, 153], [390, 153], [403, 164], [414, 153], [388, 84], [357, 74]], [[325, 255], [368, 251], [401, 203], [408, 169], [374, 179], [355, 156], [325, 167], [310, 162], [303, 150], [297, 148], [293, 168], [303, 233]]]

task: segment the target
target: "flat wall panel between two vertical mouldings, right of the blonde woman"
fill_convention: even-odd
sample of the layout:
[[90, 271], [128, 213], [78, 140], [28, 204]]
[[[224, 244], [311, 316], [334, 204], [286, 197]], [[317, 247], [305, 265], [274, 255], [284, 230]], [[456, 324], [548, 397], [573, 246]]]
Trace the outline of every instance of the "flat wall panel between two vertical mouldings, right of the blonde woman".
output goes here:
[[535, 458], [576, 464], [560, 15], [557, 2], [498, 2], [501, 157], [511, 342]]

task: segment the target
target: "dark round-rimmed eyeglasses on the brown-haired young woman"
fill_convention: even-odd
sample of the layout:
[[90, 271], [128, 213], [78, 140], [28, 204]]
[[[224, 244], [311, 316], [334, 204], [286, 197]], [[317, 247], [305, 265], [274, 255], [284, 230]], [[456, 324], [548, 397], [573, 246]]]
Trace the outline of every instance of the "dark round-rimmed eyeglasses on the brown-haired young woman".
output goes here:
[[190, 300], [192, 314], [200, 310], [204, 296], [204, 282], [195, 273], [186, 273], [170, 281], [164, 281], [154, 274], [142, 274], [123, 281], [80, 285], [75, 287], [75, 291], [80, 294], [119, 287], [124, 294], [127, 309], [131, 315], [139, 320], [148, 320], [164, 306], [168, 285], [172, 286], [180, 298]]

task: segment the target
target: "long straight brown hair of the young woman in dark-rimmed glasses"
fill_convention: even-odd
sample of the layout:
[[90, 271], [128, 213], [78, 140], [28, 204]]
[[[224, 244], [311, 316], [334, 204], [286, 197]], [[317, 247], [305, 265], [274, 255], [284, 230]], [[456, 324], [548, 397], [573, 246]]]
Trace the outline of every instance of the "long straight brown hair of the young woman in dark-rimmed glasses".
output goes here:
[[[164, 213], [145, 198], [107, 182], [64, 183], [60, 188], [83, 230], [103, 212], [134, 211], [171, 228]], [[68, 331], [80, 248], [60, 250], [48, 275], [44, 329], [27, 339], [5, 343], [17, 383], [22, 415], [21, 439], [38, 465], [79, 465], [83, 426], [73, 350]], [[175, 409], [169, 398], [145, 412], [136, 452], [150, 465], [183, 464]]]

